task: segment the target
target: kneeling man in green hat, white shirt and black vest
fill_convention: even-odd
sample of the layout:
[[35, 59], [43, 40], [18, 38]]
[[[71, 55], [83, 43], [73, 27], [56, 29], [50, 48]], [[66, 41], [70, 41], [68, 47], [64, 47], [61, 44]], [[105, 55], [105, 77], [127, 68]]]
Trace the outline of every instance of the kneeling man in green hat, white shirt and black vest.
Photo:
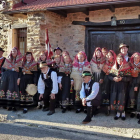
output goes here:
[[87, 116], [83, 124], [89, 123], [93, 115], [96, 114], [97, 107], [101, 104], [101, 95], [99, 94], [99, 83], [91, 79], [90, 71], [84, 71], [82, 74], [83, 83], [80, 91], [82, 105], [87, 106]]

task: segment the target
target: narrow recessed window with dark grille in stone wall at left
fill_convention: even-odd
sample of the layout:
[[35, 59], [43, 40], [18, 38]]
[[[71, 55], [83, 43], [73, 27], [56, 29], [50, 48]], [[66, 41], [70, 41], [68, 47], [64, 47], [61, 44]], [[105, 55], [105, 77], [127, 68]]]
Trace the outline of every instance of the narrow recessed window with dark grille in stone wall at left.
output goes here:
[[24, 55], [27, 50], [27, 28], [18, 29], [18, 48]]

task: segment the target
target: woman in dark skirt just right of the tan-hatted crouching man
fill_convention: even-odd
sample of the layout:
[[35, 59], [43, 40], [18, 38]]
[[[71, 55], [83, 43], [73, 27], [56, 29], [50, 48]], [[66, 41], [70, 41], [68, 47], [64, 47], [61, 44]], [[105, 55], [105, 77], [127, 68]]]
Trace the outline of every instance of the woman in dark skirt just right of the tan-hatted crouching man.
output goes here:
[[[63, 57], [63, 56], [62, 56]], [[72, 82], [70, 78], [70, 74], [72, 71], [72, 63], [69, 55], [65, 55], [60, 63], [59, 68], [59, 88], [61, 91], [61, 105], [62, 105], [62, 113], [65, 113], [67, 107], [73, 105], [74, 103], [74, 95], [70, 92], [72, 90]]]

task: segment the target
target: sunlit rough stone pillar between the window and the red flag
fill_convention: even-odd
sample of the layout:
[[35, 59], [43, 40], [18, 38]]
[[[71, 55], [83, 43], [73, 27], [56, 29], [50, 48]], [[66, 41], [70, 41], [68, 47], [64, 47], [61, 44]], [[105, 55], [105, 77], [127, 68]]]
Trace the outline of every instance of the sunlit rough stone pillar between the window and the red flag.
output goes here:
[[41, 24], [45, 24], [45, 16], [43, 13], [29, 13], [27, 19], [27, 51], [32, 51], [36, 58], [44, 50], [44, 47], [41, 45], [40, 36]]

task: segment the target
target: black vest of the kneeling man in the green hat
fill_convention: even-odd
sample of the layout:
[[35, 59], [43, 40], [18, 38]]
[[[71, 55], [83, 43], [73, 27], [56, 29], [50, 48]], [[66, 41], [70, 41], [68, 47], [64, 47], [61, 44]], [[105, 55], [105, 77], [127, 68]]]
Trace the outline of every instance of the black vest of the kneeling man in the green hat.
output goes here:
[[[89, 83], [89, 89], [86, 89], [85, 86], [86, 86], [86, 83], [84, 83], [84, 90], [85, 90], [85, 93], [86, 93], [86, 97], [89, 96], [91, 94], [91, 91], [92, 91], [92, 86], [94, 84], [94, 81], [91, 80], [90, 83]], [[100, 90], [99, 90], [100, 91]], [[100, 92], [98, 92], [97, 96], [93, 99], [93, 100], [101, 100], [101, 95], [100, 95]]]

